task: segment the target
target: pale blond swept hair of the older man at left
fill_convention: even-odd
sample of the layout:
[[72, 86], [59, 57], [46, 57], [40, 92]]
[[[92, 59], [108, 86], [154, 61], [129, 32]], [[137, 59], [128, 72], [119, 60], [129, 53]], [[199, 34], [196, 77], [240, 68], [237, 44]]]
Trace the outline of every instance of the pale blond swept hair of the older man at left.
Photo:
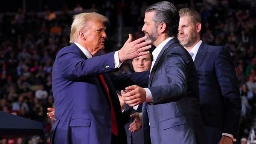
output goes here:
[[90, 20], [101, 20], [103, 23], [108, 21], [107, 17], [96, 12], [84, 12], [81, 14], [76, 14], [74, 15], [73, 19], [74, 20], [70, 30], [70, 43], [76, 42], [78, 32], [81, 29], [84, 29], [86, 27], [87, 22], [89, 22]]

